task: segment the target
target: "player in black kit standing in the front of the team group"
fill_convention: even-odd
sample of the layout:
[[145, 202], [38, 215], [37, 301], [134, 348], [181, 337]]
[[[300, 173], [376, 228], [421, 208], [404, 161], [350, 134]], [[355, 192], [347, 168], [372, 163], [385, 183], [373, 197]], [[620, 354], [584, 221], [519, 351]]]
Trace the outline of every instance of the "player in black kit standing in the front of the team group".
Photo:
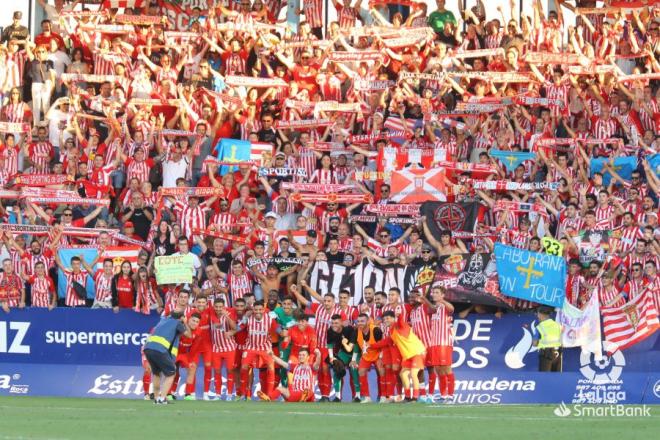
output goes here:
[[350, 325], [344, 326], [341, 315], [332, 315], [332, 323], [328, 327], [328, 363], [332, 367], [332, 378], [334, 381], [335, 398], [334, 402], [341, 402], [341, 384], [346, 375], [346, 367], [351, 372], [351, 381], [355, 389], [354, 402], [360, 401], [360, 381], [358, 371], [355, 368], [357, 353], [354, 352], [356, 346], [355, 328]]

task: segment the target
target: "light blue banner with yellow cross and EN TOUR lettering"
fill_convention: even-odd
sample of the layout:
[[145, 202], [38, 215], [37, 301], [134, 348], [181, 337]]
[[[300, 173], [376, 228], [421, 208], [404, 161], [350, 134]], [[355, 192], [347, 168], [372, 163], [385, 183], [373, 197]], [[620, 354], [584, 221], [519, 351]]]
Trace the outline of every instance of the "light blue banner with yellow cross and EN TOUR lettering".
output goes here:
[[566, 298], [566, 260], [495, 243], [500, 292], [561, 307]]

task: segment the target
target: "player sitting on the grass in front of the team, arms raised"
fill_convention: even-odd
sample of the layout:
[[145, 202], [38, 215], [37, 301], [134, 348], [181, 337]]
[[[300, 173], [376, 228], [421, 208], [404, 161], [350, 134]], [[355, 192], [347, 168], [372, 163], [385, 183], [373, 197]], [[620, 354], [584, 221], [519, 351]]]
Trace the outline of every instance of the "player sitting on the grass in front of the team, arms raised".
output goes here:
[[321, 362], [320, 350], [315, 350], [314, 358], [316, 360], [312, 366], [309, 365], [310, 356], [307, 348], [301, 348], [298, 351], [298, 364], [296, 365], [291, 365], [288, 362], [283, 361], [275, 356], [272, 351], [269, 351], [268, 354], [270, 354], [277, 365], [289, 370], [289, 386], [284, 387], [279, 385], [269, 394], [266, 394], [263, 391], [257, 391], [259, 398], [265, 401], [272, 401], [277, 400], [282, 396], [287, 402], [313, 402], [316, 372], [318, 371]]

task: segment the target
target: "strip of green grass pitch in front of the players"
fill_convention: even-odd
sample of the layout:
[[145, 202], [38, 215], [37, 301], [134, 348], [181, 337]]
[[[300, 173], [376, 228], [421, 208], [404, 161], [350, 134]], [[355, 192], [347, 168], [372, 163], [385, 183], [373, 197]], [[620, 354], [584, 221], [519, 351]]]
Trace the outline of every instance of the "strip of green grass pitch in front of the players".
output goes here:
[[566, 417], [554, 405], [184, 402], [0, 397], [4, 439], [652, 439], [651, 417]]

